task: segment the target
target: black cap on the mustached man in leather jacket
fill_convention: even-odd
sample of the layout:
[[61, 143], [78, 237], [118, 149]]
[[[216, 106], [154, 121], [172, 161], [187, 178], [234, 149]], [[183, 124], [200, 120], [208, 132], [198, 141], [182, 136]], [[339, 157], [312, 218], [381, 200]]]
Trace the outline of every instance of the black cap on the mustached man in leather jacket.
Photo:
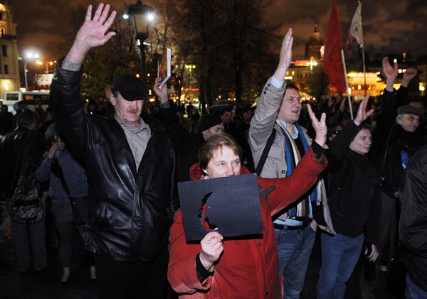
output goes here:
[[135, 101], [147, 97], [145, 82], [130, 74], [120, 75], [112, 80], [112, 92], [120, 92], [123, 99]]

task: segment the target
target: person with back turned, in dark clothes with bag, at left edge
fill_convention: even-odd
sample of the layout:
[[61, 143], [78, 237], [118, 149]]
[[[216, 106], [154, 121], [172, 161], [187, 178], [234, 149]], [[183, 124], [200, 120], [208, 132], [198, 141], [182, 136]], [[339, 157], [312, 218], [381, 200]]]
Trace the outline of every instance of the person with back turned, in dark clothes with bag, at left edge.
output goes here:
[[[6, 200], [9, 215], [11, 200], [21, 173], [21, 163], [25, 159], [25, 149], [28, 151], [28, 177], [36, 172], [45, 151], [45, 138], [35, 130], [36, 118], [33, 112], [21, 112], [16, 117], [16, 125], [16, 129], [3, 136], [0, 141], [0, 197]], [[44, 217], [41, 221], [31, 224], [18, 223], [11, 219], [11, 226], [18, 271], [26, 273], [30, 270], [31, 256], [34, 270], [43, 270], [47, 265]], [[31, 234], [32, 254], [28, 244], [28, 231]]]

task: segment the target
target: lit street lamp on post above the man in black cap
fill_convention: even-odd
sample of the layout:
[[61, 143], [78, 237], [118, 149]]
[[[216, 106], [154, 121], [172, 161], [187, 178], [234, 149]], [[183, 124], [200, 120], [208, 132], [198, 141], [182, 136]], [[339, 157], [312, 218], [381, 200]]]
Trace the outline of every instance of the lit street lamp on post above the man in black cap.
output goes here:
[[137, 0], [136, 4], [129, 6], [127, 13], [123, 16], [125, 19], [132, 17], [135, 38], [137, 39], [139, 53], [141, 54], [141, 74], [144, 79], [146, 76], [144, 40], [148, 37], [149, 22], [154, 18], [153, 11], [152, 6], [142, 4], [141, 0]]

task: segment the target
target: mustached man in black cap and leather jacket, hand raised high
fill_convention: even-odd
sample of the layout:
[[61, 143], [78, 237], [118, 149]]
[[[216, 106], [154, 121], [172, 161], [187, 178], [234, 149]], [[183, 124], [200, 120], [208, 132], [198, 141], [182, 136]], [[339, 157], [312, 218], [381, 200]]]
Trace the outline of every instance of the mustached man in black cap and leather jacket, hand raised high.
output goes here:
[[[85, 161], [90, 205], [82, 229], [94, 252], [100, 298], [164, 298], [167, 242], [173, 221], [175, 153], [166, 131], [142, 112], [145, 83], [132, 75], [112, 82], [111, 119], [87, 115], [80, 104], [82, 63], [107, 43], [116, 12], [88, 6], [85, 22], [58, 61], [50, 107], [70, 146]], [[92, 16], [93, 15], [93, 16]]]

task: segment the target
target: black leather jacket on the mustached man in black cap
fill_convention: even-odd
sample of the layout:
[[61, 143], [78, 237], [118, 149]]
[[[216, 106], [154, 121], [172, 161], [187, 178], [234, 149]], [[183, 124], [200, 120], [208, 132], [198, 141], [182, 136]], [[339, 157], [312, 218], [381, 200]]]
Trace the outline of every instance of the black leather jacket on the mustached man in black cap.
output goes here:
[[59, 62], [49, 106], [66, 141], [85, 161], [90, 195], [85, 246], [115, 261], [152, 261], [167, 246], [177, 202], [172, 143], [158, 121], [142, 115], [152, 136], [136, 169], [115, 118], [83, 112], [81, 75], [63, 70]]

